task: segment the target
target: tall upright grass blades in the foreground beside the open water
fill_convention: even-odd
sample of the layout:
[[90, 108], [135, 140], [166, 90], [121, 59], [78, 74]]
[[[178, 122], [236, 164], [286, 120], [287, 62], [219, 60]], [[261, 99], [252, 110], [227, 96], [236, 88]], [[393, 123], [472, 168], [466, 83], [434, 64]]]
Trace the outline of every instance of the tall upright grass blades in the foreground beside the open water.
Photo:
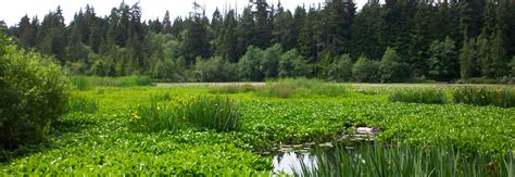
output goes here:
[[362, 146], [316, 151], [311, 163], [301, 163], [296, 176], [513, 176], [514, 156], [503, 162], [490, 156], [465, 156], [452, 147]]

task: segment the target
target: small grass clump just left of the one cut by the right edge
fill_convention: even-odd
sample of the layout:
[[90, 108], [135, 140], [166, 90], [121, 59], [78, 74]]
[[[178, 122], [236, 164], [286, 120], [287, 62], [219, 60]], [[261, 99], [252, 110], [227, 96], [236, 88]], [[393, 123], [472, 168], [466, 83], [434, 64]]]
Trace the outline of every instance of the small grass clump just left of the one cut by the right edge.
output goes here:
[[395, 90], [388, 97], [392, 102], [444, 104], [445, 92], [434, 88], [401, 89]]

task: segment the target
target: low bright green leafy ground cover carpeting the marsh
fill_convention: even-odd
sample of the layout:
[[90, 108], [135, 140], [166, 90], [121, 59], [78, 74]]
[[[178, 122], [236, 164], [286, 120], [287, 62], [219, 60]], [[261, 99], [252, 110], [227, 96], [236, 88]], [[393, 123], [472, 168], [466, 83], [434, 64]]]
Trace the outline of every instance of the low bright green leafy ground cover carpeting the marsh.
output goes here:
[[[50, 142], [7, 153], [10, 160], [0, 164], [0, 173], [267, 174], [272, 157], [260, 153], [272, 147], [324, 142], [350, 134], [356, 126], [381, 127], [381, 142], [452, 144], [461, 153], [480, 153], [499, 162], [513, 153], [515, 109], [390, 102], [388, 94], [395, 88], [341, 87], [346, 87], [344, 93], [332, 97], [303, 94], [288, 99], [263, 96], [253, 89], [224, 93], [208, 87], [74, 91], [73, 98], [89, 100], [78, 101], [75, 110], [92, 108], [90, 104], [97, 104], [96, 109], [71, 109], [52, 129]], [[452, 90], [445, 89], [448, 94]], [[198, 96], [215, 94], [228, 97], [238, 105], [238, 129], [130, 128], [130, 114], [137, 106], [174, 106]]]

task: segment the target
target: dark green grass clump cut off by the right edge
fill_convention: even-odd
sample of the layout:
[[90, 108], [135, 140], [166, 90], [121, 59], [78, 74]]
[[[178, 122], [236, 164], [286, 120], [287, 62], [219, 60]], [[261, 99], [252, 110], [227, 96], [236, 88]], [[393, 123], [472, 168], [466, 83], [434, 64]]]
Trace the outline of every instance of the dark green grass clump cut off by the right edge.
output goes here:
[[515, 106], [515, 89], [501, 87], [460, 87], [452, 93], [455, 103], [473, 105]]

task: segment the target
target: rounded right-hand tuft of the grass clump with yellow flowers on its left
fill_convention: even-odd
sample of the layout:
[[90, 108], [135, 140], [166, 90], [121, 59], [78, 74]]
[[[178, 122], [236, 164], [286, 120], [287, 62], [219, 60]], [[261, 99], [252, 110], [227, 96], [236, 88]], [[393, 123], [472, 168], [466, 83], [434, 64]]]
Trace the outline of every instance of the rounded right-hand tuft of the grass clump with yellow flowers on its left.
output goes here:
[[179, 112], [193, 126], [219, 131], [237, 130], [240, 113], [228, 98], [197, 97], [179, 105]]

